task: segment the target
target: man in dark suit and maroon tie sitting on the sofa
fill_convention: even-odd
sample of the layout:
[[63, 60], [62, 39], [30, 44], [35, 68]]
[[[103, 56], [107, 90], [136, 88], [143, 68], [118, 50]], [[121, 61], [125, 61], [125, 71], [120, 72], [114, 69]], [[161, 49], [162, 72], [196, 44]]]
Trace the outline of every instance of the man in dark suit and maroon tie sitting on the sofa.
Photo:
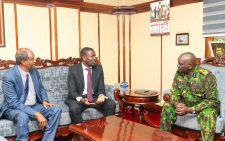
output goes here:
[[104, 74], [102, 66], [96, 64], [95, 51], [85, 47], [81, 50], [82, 62], [69, 68], [69, 95], [65, 103], [69, 106], [73, 123], [81, 123], [82, 111], [95, 108], [105, 116], [115, 114], [116, 104], [105, 96]]

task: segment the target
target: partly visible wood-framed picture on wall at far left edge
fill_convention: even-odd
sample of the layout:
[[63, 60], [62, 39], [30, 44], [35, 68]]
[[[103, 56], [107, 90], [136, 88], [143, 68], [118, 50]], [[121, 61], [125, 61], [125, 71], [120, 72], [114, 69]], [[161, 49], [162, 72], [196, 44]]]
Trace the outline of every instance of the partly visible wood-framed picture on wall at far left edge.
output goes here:
[[0, 0], [0, 47], [5, 46], [3, 0]]

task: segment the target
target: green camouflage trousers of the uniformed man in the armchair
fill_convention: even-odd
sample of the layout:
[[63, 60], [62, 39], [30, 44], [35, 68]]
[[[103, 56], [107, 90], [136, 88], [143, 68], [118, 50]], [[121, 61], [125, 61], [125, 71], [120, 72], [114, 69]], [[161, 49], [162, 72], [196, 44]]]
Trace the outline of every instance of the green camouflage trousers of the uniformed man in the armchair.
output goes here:
[[[201, 128], [203, 141], [213, 141], [216, 130], [216, 118], [218, 111], [214, 108], [206, 108], [197, 114], [197, 120]], [[163, 105], [160, 120], [160, 129], [171, 131], [171, 125], [176, 121], [175, 107], [170, 103]]]

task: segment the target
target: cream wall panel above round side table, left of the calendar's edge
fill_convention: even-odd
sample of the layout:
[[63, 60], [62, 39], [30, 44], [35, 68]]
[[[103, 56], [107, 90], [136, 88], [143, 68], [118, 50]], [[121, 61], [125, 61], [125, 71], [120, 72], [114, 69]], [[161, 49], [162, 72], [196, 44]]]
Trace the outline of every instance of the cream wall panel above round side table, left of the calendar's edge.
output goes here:
[[150, 36], [149, 12], [132, 15], [132, 88], [160, 90], [160, 37]]

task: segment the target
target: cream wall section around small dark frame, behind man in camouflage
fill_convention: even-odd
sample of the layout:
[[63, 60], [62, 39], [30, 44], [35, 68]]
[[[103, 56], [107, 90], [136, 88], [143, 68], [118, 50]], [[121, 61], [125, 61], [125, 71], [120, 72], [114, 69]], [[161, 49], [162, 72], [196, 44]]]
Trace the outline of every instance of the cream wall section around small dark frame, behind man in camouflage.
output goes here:
[[[189, 51], [199, 58], [204, 57], [205, 38], [202, 37], [202, 17], [202, 2], [171, 8], [170, 35], [163, 36], [163, 89], [171, 86], [179, 54]], [[176, 33], [189, 33], [189, 45], [176, 46]]]

